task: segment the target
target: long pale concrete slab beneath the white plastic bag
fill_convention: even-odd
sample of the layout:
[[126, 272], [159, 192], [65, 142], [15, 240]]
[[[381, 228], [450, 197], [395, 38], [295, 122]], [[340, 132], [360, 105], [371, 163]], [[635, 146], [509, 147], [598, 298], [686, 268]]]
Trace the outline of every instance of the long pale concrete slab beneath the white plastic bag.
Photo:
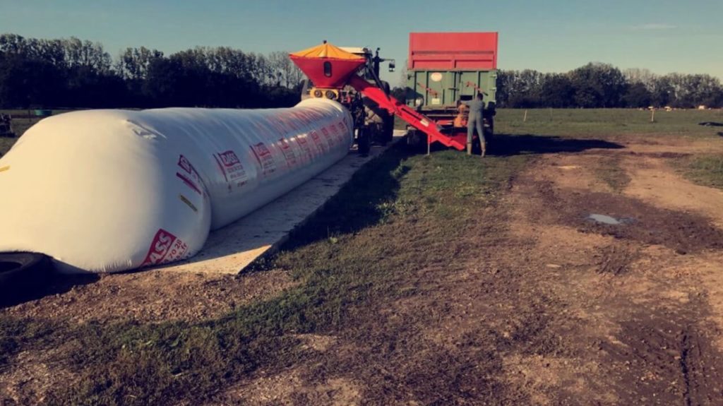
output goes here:
[[394, 141], [372, 147], [369, 156], [350, 152], [341, 161], [307, 183], [266, 204], [231, 225], [213, 231], [193, 258], [159, 267], [168, 271], [236, 274], [260, 256], [273, 253], [294, 228], [319, 210], [362, 166], [398, 142], [405, 131], [395, 130]]

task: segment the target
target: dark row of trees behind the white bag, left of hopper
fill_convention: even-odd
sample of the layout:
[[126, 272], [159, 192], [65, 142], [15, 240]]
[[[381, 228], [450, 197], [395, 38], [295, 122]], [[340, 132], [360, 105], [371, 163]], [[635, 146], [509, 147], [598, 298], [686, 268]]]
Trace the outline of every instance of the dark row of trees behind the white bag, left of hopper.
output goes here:
[[286, 52], [200, 47], [116, 58], [78, 38], [0, 35], [0, 108], [263, 108], [299, 101], [303, 74]]

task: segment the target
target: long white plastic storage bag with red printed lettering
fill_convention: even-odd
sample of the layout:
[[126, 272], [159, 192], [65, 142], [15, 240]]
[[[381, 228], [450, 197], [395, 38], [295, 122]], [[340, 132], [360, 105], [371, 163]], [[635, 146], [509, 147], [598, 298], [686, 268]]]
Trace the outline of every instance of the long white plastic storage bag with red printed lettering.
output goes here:
[[28, 129], [0, 159], [0, 252], [64, 272], [193, 256], [233, 223], [347, 154], [346, 108], [77, 111]]

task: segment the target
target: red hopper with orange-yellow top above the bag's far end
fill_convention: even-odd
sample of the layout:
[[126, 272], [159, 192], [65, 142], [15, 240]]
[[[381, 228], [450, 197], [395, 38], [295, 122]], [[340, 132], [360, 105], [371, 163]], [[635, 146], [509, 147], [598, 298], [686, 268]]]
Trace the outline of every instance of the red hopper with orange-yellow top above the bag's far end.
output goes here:
[[324, 41], [319, 46], [290, 53], [291, 61], [316, 87], [341, 88], [366, 60]]

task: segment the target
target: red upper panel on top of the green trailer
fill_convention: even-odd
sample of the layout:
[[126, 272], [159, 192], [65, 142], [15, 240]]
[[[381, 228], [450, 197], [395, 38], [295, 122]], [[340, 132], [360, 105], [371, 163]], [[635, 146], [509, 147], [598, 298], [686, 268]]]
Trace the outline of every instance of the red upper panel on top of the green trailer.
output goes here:
[[497, 33], [409, 33], [408, 69], [497, 69]]

